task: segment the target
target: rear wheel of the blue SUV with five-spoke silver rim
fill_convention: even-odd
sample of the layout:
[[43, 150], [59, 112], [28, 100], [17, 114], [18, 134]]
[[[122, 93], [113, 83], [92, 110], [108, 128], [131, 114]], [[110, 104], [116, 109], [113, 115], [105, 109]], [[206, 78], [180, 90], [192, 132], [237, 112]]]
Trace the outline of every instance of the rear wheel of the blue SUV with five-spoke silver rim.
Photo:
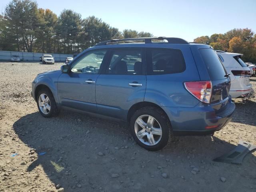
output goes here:
[[[148, 121], [152, 118], [154, 118], [153, 124]], [[137, 122], [142, 122], [140, 124], [143, 126]], [[132, 115], [130, 131], [138, 145], [149, 151], [160, 150], [172, 140], [172, 127], [168, 117], [162, 110], [152, 106], [140, 108]]]

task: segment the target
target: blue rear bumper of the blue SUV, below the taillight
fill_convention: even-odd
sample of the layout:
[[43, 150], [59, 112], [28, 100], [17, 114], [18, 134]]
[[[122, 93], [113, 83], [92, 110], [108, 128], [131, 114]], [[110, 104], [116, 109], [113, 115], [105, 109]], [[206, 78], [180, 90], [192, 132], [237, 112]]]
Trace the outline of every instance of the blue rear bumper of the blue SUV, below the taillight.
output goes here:
[[[209, 135], [231, 121], [235, 104], [229, 98], [225, 109], [216, 114], [212, 106], [199, 103], [194, 108], [163, 107], [168, 115], [174, 135]], [[206, 128], [212, 127], [212, 128]]]

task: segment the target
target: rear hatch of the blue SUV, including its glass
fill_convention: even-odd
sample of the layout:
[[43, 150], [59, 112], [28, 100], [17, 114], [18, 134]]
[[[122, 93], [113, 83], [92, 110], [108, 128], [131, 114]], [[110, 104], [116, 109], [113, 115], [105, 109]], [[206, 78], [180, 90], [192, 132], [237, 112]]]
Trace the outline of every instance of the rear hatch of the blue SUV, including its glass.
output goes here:
[[199, 52], [212, 82], [210, 104], [216, 113], [220, 113], [226, 108], [228, 103], [230, 77], [213, 49], [200, 48]]

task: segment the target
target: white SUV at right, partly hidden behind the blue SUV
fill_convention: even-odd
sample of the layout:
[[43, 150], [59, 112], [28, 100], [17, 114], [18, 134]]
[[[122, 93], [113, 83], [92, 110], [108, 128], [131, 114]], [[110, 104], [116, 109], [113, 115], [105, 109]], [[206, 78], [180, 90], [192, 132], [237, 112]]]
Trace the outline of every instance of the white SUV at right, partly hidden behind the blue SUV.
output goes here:
[[254, 90], [252, 84], [250, 84], [251, 71], [241, 59], [243, 54], [218, 50], [216, 52], [226, 71], [230, 74], [231, 87], [229, 93], [231, 97], [245, 99], [254, 97]]

